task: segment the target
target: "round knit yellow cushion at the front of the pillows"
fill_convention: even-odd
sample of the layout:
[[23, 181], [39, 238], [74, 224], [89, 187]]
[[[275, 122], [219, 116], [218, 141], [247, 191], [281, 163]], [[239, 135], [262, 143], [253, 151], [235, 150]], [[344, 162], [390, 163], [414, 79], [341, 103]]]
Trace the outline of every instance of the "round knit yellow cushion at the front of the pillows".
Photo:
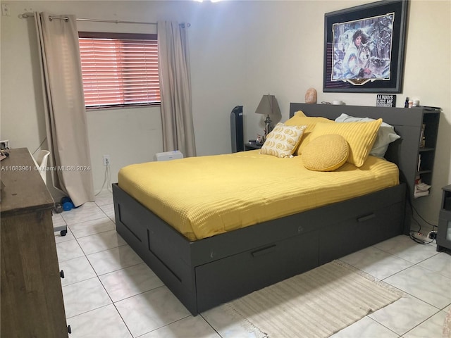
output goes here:
[[327, 134], [313, 139], [302, 151], [304, 167], [315, 171], [333, 171], [345, 164], [349, 145], [339, 134]]

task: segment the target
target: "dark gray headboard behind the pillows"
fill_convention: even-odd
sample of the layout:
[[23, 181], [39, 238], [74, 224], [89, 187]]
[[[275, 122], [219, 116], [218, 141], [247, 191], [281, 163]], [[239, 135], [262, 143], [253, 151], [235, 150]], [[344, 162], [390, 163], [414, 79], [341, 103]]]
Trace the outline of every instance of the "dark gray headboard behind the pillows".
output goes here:
[[407, 183], [409, 196], [413, 196], [418, 147], [423, 123], [421, 108], [390, 108], [369, 106], [334, 106], [331, 104], [290, 104], [290, 117], [297, 111], [307, 116], [322, 116], [335, 120], [341, 113], [360, 118], [382, 118], [393, 125], [401, 139], [390, 144], [385, 158], [400, 168], [400, 181]]

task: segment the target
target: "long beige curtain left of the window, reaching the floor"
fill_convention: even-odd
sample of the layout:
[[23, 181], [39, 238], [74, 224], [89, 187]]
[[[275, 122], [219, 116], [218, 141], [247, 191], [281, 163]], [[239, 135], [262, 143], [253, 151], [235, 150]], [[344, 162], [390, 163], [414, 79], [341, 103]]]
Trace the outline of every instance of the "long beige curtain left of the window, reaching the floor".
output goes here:
[[78, 31], [74, 15], [35, 13], [53, 185], [75, 206], [94, 201]]

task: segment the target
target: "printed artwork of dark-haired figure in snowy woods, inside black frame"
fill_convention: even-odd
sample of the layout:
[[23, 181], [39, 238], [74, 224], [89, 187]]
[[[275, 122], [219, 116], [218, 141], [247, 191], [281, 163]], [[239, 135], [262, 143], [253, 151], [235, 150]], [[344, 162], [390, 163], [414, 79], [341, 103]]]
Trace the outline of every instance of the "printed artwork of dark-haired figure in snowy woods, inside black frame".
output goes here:
[[390, 80], [395, 13], [333, 24], [332, 81]]

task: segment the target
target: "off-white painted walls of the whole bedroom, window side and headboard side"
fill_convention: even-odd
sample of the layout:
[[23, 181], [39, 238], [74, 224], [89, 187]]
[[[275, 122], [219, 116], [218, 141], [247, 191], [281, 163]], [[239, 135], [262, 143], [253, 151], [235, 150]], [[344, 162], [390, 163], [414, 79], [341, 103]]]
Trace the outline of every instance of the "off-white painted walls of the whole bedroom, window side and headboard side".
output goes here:
[[[254, 113], [262, 94], [275, 94], [288, 118], [290, 102], [304, 101], [309, 87], [318, 101], [342, 99], [350, 105], [375, 106], [376, 94], [323, 93], [324, 13], [372, 1], [1, 1], [11, 16], [1, 17], [1, 139], [15, 147], [37, 149], [44, 139], [44, 118], [35, 56], [32, 19], [26, 11], [75, 14], [78, 18], [178, 20], [189, 22], [192, 106], [198, 155], [230, 152], [229, 116], [240, 104], [245, 139], [264, 127]], [[436, 222], [440, 187], [451, 182], [451, 1], [410, 2], [407, 29], [405, 96], [440, 106], [438, 151], [432, 195], [415, 205]], [[80, 30], [152, 30], [153, 26], [78, 22]], [[112, 181], [128, 163], [150, 161], [162, 151], [157, 108], [88, 112], [94, 187], [104, 177], [103, 154], [110, 154]], [[128, 139], [128, 142], [123, 142]]]

